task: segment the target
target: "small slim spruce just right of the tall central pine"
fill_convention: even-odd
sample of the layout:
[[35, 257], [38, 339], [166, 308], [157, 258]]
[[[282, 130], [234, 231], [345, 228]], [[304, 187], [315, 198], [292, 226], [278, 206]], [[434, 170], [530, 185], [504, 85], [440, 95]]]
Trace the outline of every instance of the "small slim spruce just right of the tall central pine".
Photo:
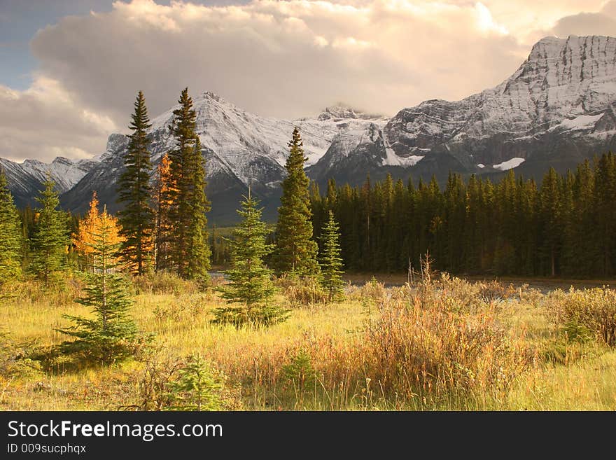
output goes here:
[[335, 221], [334, 213], [329, 212], [329, 219], [323, 225], [321, 240], [323, 251], [321, 252], [321, 285], [328, 292], [329, 300], [342, 298], [342, 286], [344, 281], [340, 276], [342, 271], [342, 258], [340, 257], [339, 225]]

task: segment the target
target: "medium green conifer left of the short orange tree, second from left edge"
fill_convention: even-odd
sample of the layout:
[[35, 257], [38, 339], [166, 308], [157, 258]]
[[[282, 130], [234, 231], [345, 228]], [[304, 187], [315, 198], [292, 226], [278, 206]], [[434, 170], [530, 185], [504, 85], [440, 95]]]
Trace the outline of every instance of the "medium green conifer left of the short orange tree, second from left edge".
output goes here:
[[35, 210], [38, 217], [32, 236], [32, 259], [30, 270], [49, 286], [54, 275], [66, 266], [66, 249], [69, 244], [66, 214], [56, 209], [59, 198], [50, 174], [43, 182], [45, 190], [36, 200], [41, 208]]

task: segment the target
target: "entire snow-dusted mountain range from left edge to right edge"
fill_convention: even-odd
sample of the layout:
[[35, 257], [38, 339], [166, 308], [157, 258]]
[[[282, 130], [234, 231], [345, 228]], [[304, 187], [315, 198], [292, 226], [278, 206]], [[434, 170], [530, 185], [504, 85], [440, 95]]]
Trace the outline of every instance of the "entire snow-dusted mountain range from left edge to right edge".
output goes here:
[[[321, 186], [332, 177], [358, 184], [366, 174], [382, 179], [391, 173], [404, 180], [434, 174], [444, 181], [449, 171], [498, 176], [512, 168], [540, 179], [548, 167], [564, 171], [596, 153], [616, 150], [616, 39], [547, 37], [495, 88], [456, 102], [428, 100], [391, 119], [342, 104], [312, 118], [264, 118], [211, 92], [196, 96], [194, 107], [213, 204], [209, 218], [219, 225], [237, 221], [235, 209], [249, 183], [262, 200], [264, 216], [275, 218], [295, 126], [304, 141], [307, 173]], [[169, 132], [174, 109], [153, 120], [155, 164], [174, 148]], [[64, 207], [85, 210], [97, 190], [101, 202], [116, 211], [126, 147], [123, 134], [112, 134], [95, 161], [54, 160], [52, 175], [64, 191]], [[35, 160], [0, 162], [18, 202], [31, 197], [41, 172], [50, 168]]]

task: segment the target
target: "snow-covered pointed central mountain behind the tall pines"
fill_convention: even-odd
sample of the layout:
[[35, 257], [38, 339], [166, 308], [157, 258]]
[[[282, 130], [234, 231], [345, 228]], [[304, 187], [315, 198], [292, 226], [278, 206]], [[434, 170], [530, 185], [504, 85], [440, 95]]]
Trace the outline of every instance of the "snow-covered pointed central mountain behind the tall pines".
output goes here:
[[[307, 165], [314, 165], [328, 151], [332, 141], [348, 130], [360, 133], [372, 123], [381, 127], [386, 123], [382, 116], [345, 106], [330, 107], [314, 118], [264, 118], [239, 109], [211, 92], [193, 97], [193, 107], [197, 113], [196, 131], [206, 158], [207, 194], [214, 204], [209, 215], [214, 221], [235, 219], [239, 197], [246, 193], [249, 183], [262, 197], [266, 216], [275, 214], [279, 184], [284, 177], [287, 144], [295, 126], [302, 134]], [[174, 148], [174, 138], [169, 130], [174, 109], [176, 106], [152, 120], [150, 135], [154, 164]], [[351, 144], [356, 146], [357, 141], [351, 141]], [[101, 202], [106, 202], [112, 211], [116, 210], [115, 184], [122, 172], [122, 155], [126, 148], [127, 137], [112, 134], [106, 151], [99, 155], [99, 164], [62, 195], [63, 204], [82, 211], [87, 207], [84, 197], [97, 190]]]

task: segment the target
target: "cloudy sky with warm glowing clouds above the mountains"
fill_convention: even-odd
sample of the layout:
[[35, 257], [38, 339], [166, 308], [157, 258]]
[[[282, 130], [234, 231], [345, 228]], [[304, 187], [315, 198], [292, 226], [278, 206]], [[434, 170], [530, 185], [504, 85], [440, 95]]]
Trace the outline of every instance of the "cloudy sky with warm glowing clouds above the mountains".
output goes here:
[[497, 85], [543, 36], [616, 34], [616, 0], [0, 0], [0, 156], [104, 151], [210, 90], [262, 116], [393, 115]]

